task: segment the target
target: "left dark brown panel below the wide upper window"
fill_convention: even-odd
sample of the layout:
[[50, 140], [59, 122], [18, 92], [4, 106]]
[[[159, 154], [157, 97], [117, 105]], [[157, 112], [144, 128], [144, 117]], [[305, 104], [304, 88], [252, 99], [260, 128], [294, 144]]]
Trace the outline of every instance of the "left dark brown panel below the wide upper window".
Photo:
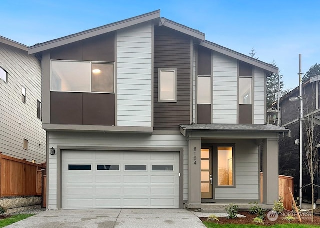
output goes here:
[[51, 124], [82, 124], [82, 94], [50, 93]]

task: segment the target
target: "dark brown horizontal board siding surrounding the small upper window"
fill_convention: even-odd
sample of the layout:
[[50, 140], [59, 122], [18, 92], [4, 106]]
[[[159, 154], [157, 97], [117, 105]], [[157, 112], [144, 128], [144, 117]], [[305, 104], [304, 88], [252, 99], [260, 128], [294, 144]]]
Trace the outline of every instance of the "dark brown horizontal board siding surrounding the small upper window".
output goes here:
[[[190, 37], [154, 28], [154, 129], [178, 130], [190, 124]], [[158, 102], [158, 68], [177, 69], [177, 102]]]

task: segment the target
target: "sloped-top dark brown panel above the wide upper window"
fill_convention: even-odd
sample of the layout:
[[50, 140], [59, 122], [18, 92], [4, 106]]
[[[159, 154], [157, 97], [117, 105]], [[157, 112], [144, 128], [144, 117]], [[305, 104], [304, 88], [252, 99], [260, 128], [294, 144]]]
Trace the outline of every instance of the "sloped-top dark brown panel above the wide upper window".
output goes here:
[[114, 33], [54, 48], [51, 59], [114, 62]]

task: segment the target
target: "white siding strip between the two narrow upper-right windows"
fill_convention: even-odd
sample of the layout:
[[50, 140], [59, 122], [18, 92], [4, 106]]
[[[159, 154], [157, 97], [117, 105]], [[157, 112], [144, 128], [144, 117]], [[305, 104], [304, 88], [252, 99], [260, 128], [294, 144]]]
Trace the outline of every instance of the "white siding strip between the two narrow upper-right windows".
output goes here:
[[237, 60], [213, 52], [213, 123], [237, 123]]

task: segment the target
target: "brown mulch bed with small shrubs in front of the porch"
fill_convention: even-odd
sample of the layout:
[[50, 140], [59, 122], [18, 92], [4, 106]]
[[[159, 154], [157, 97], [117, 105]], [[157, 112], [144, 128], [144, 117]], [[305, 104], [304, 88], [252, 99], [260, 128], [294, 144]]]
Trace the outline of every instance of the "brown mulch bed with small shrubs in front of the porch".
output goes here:
[[[268, 211], [265, 213], [267, 215]], [[214, 213], [212, 213], [214, 214]], [[227, 219], [226, 217], [219, 217], [218, 222], [212, 222], [212, 223], [218, 223], [218, 224], [256, 224], [252, 222], [252, 220], [257, 216], [257, 215], [252, 215], [248, 211], [239, 211], [238, 214], [244, 215], [246, 217], [238, 217], [236, 219]], [[295, 217], [295, 220], [293, 221], [287, 221], [284, 218], [287, 215], [292, 215]], [[301, 219], [302, 223], [301, 224], [313, 224], [313, 225], [320, 225], [320, 216], [314, 215], [314, 222], [311, 222], [311, 214], [301, 214]], [[206, 221], [207, 217], [200, 217], [202, 221]], [[265, 225], [272, 225], [272, 224], [287, 224], [287, 223], [300, 223], [297, 216], [292, 213], [292, 212], [284, 212], [283, 215], [281, 214], [278, 215], [278, 219], [276, 221], [270, 221], [267, 216], [265, 216], [265, 219], [263, 220]]]

